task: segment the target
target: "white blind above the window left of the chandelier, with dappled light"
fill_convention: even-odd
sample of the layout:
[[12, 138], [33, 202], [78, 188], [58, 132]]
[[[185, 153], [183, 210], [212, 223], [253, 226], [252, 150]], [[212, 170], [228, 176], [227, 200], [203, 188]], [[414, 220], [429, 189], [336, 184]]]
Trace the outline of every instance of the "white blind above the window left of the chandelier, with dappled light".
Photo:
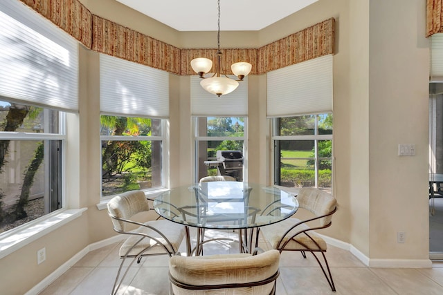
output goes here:
[[100, 111], [128, 117], [169, 117], [169, 74], [100, 55]]

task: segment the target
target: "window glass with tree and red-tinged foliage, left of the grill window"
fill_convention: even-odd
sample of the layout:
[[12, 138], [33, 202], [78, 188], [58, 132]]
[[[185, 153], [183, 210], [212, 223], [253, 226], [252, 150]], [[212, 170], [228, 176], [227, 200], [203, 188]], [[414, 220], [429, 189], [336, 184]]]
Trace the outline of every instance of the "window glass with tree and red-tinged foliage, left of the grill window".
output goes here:
[[163, 121], [100, 116], [102, 196], [163, 186]]

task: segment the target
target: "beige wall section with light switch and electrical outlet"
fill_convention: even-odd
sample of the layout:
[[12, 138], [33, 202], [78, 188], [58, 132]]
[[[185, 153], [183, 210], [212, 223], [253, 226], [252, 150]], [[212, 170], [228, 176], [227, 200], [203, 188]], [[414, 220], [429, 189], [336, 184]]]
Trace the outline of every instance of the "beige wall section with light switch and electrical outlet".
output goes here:
[[[425, 1], [370, 1], [370, 256], [428, 257]], [[398, 144], [415, 144], [399, 157]], [[397, 231], [406, 243], [397, 244]]]

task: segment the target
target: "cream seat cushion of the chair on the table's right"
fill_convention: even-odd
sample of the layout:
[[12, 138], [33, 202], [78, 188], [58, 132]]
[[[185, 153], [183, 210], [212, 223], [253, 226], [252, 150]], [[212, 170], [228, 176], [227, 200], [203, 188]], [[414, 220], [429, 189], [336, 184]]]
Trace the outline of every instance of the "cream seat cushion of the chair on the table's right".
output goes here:
[[[292, 229], [289, 234], [287, 234], [287, 236], [285, 236], [282, 240], [284, 233], [293, 225], [296, 225], [296, 223], [298, 222], [300, 222], [300, 220], [297, 218], [288, 218], [273, 225], [260, 227], [260, 231], [262, 232], [264, 238], [266, 238], [266, 240], [271, 243], [273, 249], [280, 249], [284, 242], [289, 240], [289, 238], [291, 238], [293, 234], [296, 234], [298, 231], [302, 231], [303, 229], [309, 229], [309, 227], [305, 224], [298, 225], [295, 229]], [[309, 249], [314, 251], [326, 251], [327, 245], [323, 238], [320, 238], [320, 236], [316, 235], [314, 231], [308, 231], [308, 234], [309, 236], [311, 236], [312, 239], [309, 238], [306, 234], [298, 234], [296, 237], [289, 241], [284, 249], [293, 249], [298, 251]], [[278, 243], [280, 242], [280, 240], [282, 240], [282, 242], [279, 246]], [[318, 249], [318, 246], [313, 240], [317, 242], [318, 245], [320, 245], [320, 249]], [[306, 245], [306, 247], [304, 245]]]

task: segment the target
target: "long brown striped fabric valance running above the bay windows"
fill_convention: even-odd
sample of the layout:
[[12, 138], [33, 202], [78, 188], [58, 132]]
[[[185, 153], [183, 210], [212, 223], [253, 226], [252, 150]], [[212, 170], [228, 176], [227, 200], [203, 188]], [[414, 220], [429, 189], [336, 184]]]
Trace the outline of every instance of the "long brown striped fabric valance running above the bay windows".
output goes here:
[[[177, 75], [195, 75], [190, 67], [190, 61], [195, 57], [207, 57], [213, 61], [217, 57], [216, 49], [177, 48], [98, 15], [92, 15], [78, 0], [21, 1], [78, 39], [84, 46], [99, 53]], [[438, 2], [441, 1], [443, 0]], [[334, 30], [335, 19], [331, 18], [258, 49], [223, 49], [223, 68], [226, 75], [229, 75], [230, 64], [248, 61], [253, 65], [251, 75], [262, 75], [270, 70], [334, 54]]]

